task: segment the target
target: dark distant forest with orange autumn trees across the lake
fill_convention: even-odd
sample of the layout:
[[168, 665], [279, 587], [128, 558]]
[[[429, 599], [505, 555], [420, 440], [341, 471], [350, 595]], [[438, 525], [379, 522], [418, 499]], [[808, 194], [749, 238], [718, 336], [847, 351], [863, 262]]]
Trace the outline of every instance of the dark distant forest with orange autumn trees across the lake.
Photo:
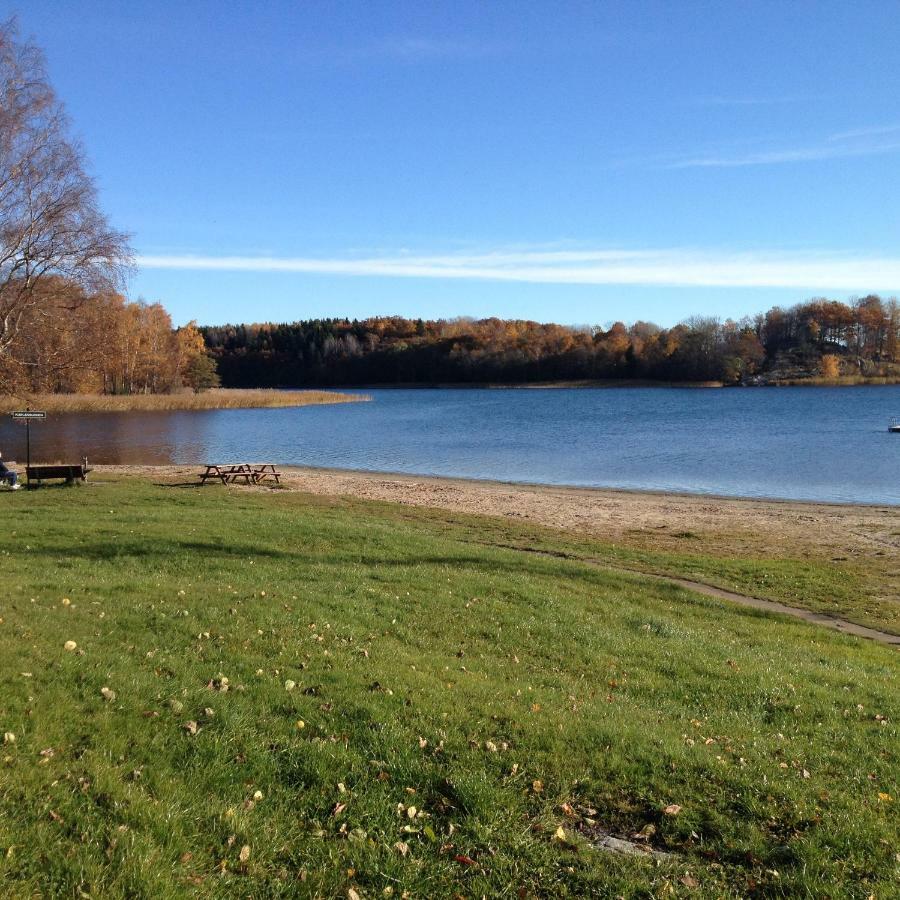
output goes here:
[[673, 328], [392, 316], [200, 331], [226, 387], [900, 380], [900, 308], [874, 295]]

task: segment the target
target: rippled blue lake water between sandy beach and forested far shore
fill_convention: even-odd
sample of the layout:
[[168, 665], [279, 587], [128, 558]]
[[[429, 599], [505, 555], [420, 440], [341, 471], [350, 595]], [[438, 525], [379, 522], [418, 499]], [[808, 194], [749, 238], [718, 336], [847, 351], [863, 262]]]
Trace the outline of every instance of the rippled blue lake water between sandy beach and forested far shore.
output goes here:
[[[747, 497], [900, 504], [900, 386], [375, 390], [299, 409], [60, 415], [32, 458], [241, 460]], [[0, 424], [25, 458], [24, 426]]]

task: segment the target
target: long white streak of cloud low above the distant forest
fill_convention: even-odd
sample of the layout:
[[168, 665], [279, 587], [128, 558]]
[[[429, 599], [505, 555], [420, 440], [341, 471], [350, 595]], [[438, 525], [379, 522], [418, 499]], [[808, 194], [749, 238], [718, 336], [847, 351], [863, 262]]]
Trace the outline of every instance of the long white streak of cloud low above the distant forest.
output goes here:
[[368, 278], [466, 279], [532, 284], [900, 289], [900, 257], [662, 250], [527, 250], [367, 258], [142, 256], [145, 269], [282, 272]]

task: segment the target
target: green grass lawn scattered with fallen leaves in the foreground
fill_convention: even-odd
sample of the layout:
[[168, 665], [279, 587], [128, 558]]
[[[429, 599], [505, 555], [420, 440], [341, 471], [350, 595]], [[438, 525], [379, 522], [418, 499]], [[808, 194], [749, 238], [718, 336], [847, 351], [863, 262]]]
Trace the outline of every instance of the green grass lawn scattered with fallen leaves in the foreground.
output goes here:
[[509, 522], [0, 500], [4, 897], [900, 892], [896, 651]]

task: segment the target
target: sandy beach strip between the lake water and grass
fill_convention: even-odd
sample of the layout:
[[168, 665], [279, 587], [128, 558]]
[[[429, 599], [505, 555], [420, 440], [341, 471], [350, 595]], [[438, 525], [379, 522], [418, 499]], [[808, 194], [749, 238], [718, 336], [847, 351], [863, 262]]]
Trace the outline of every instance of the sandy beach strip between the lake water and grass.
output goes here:
[[[888, 552], [900, 559], [900, 507], [886, 504], [520, 484], [302, 466], [278, 468], [287, 490], [510, 518], [654, 550], [700, 552], [734, 547], [779, 557], [790, 546], [801, 555], [830, 553], [864, 560], [870, 554]], [[101, 475], [196, 482], [201, 467], [98, 465], [95, 469]]]

